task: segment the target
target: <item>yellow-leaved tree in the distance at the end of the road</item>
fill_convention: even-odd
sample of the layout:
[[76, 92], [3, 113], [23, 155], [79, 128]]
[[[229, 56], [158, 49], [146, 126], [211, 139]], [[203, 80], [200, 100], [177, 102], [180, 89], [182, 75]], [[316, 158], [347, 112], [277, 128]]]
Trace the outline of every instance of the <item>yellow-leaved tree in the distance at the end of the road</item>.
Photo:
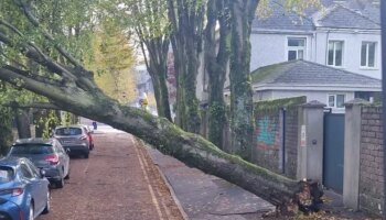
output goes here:
[[[114, 21], [101, 21], [93, 35], [93, 56], [85, 61], [97, 73], [96, 84], [109, 97], [128, 103], [136, 98], [133, 46]], [[87, 58], [89, 57], [89, 58]]]

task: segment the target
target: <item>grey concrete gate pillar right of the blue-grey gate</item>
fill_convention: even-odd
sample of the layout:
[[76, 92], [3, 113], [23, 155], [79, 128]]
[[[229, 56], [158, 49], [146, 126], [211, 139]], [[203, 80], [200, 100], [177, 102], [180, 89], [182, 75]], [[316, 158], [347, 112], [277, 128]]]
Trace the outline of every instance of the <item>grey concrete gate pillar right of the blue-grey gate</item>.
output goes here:
[[353, 210], [360, 208], [361, 114], [364, 103], [366, 101], [362, 99], [345, 103], [343, 205]]

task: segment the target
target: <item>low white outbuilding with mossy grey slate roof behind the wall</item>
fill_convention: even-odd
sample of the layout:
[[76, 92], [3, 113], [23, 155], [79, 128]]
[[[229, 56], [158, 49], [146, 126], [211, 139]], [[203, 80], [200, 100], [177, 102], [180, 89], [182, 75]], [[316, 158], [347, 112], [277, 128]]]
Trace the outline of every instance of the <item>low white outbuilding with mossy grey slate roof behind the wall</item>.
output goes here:
[[335, 113], [354, 98], [369, 100], [382, 91], [379, 79], [300, 59], [260, 67], [251, 79], [254, 101], [305, 96]]

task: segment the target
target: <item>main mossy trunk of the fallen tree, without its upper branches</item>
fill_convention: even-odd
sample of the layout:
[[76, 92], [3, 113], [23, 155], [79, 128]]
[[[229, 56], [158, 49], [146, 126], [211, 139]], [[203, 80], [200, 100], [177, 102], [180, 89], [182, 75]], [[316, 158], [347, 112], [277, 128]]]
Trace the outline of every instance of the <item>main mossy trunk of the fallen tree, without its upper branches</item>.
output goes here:
[[297, 199], [297, 194], [302, 189], [299, 182], [227, 154], [202, 136], [182, 131], [164, 118], [121, 106], [99, 89], [85, 91], [77, 87], [46, 85], [4, 68], [0, 69], [0, 78], [9, 82], [15, 78], [23, 79], [24, 88], [47, 97], [57, 108], [129, 132], [162, 153], [224, 178], [275, 205], [288, 205]]

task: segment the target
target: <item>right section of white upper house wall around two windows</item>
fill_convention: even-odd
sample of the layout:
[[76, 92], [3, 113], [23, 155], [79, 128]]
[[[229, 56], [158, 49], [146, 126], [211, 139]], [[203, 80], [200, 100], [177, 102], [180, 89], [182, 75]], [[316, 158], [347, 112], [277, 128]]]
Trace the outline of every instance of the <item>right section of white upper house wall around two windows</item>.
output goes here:
[[[355, 32], [356, 31], [356, 32]], [[311, 62], [326, 65], [329, 41], [344, 41], [343, 66], [337, 67], [347, 72], [362, 74], [380, 79], [380, 32], [360, 33], [357, 30], [349, 31], [317, 31], [315, 58]], [[361, 67], [362, 42], [377, 42], [375, 68]]]

